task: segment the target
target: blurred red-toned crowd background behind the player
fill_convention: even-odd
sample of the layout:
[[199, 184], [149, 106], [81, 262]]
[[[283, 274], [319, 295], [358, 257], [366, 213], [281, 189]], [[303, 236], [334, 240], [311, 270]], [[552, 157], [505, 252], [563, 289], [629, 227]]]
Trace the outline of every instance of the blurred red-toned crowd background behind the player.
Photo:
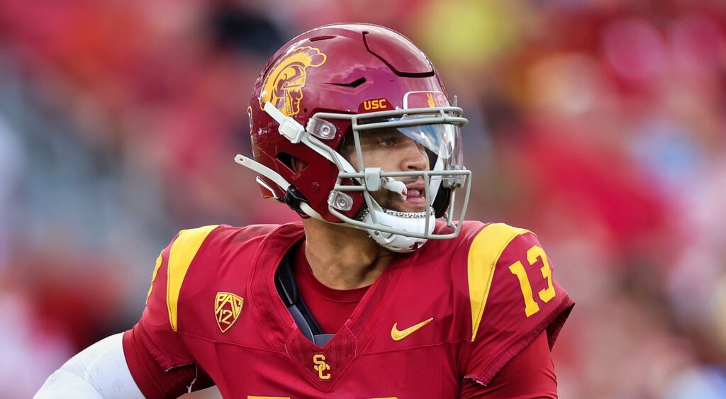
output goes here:
[[134, 324], [179, 229], [296, 218], [232, 159], [266, 59], [339, 21], [459, 96], [468, 218], [536, 231], [578, 303], [561, 398], [726, 398], [716, 0], [2, 1], [0, 398]]

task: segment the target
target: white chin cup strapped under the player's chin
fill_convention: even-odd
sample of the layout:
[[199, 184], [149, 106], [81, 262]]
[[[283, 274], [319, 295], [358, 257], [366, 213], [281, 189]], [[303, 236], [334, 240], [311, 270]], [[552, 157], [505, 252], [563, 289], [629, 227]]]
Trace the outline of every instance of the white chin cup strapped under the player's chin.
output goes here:
[[[428, 231], [426, 230], [427, 217], [425, 212], [409, 213], [388, 209], [373, 210], [373, 212], [375, 212], [375, 218], [378, 220], [378, 225], [389, 227], [395, 226], [396, 229], [409, 233], [430, 235], [436, 227], [436, 217], [433, 215], [433, 209], [429, 209]], [[368, 208], [364, 210], [364, 214], [360, 219], [363, 223], [374, 223], [373, 216]], [[404, 234], [392, 234], [374, 229], [365, 229], [365, 231], [368, 233], [370, 238], [373, 239], [373, 241], [378, 243], [378, 245], [392, 252], [413, 252], [420, 247], [423, 247], [423, 244], [428, 242], [427, 238], [417, 238]]]

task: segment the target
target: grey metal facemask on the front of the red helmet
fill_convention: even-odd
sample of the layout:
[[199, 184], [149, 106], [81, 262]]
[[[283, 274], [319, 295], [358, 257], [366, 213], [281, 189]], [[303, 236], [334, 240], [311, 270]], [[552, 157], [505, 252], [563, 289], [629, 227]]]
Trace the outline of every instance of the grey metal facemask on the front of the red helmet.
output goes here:
[[[340, 152], [334, 152], [323, 144], [324, 137], [330, 136], [326, 120], [341, 118], [351, 120], [351, 133]], [[465, 123], [457, 107], [313, 115], [308, 125], [312, 136], [309, 145], [319, 153], [326, 152], [340, 171], [328, 198], [328, 210], [344, 223], [366, 230], [375, 242], [394, 252], [416, 250], [428, 239], [453, 238], [458, 234], [454, 192], [466, 186], [458, 222], [464, 218], [469, 197], [470, 171], [462, 166], [460, 145], [460, 127]], [[421, 159], [407, 168], [401, 166], [405, 160], [395, 165], [395, 158], [404, 156], [401, 147], [408, 147], [403, 152], [409, 155], [418, 151]], [[386, 160], [388, 151], [393, 160]], [[415, 158], [415, 153], [412, 156]], [[391, 170], [381, 168], [383, 164]], [[351, 195], [356, 192], [363, 195], [365, 206], [351, 218], [344, 212], [351, 209]], [[445, 216], [452, 230], [434, 234], [437, 215]]]

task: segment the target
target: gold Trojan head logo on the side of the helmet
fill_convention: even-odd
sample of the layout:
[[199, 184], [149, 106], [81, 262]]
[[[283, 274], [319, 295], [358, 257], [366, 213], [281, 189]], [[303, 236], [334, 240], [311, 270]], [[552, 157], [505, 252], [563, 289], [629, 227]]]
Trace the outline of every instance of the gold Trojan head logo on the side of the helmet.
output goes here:
[[286, 116], [300, 112], [303, 87], [307, 77], [306, 69], [319, 67], [327, 56], [314, 47], [298, 47], [278, 59], [262, 83], [260, 107], [272, 102]]

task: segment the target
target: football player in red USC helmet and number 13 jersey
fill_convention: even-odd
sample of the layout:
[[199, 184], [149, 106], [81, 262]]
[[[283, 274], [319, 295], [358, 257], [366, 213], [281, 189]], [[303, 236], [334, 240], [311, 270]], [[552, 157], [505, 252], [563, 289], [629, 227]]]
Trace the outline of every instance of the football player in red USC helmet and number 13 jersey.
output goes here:
[[180, 231], [141, 320], [37, 398], [556, 398], [573, 302], [537, 236], [463, 221], [467, 120], [409, 39], [326, 25], [267, 62], [248, 108], [266, 199], [301, 222]]

